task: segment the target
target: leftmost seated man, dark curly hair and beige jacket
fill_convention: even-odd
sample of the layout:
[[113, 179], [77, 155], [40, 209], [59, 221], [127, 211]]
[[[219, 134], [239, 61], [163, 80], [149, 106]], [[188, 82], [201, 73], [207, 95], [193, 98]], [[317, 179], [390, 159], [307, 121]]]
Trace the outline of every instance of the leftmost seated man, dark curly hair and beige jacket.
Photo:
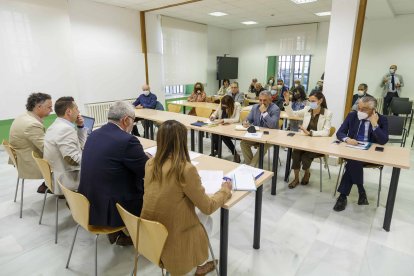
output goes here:
[[[24, 179], [43, 179], [32, 151], [43, 156], [43, 141], [45, 127], [43, 119], [52, 109], [52, 98], [44, 93], [32, 93], [27, 99], [27, 112], [17, 117], [10, 127], [10, 145], [16, 151], [19, 177]], [[37, 189], [38, 193], [45, 193], [47, 186], [43, 182]]]

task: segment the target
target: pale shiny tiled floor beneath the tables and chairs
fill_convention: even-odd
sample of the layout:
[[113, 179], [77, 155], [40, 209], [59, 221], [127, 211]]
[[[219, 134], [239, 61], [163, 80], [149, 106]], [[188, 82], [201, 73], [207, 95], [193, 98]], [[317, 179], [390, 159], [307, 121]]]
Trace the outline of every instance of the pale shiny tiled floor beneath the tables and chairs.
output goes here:
[[[205, 152], [209, 152], [207, 142]], [[231, 159], [227, 149], [224, 155]], [[413, 275], [413, 169], [401, 171], [391, 232], [387, 233], [382, 222], [390, 168], [384, 169], [379, 208], [376, 207], [378, 170], [366, 170], [370, 205], [356, 204], [354, 188], [347, 209], [336, 213], [332, 210], [335, 203], [332, 193], [339, 167], [331, 166], [332, 179], [324, 171], [322, 193], [317, 163], [312, 166], [310, 185], [289, 190], [282, 178], [286, 153], [281, 151], [280, 157], [283, 165], [277, 196], [270, 195], [270, 183], [264, 185], [260, 250], [252, 248], [254, 194], [230, 210], [229, 275]], [[6, 153], [1, 149], [0, 275], [92, 275], [94, 237], [79, 230], [70, 268], [65, 269], [75, 223], [64, 200], [60, 200], [59, 206], [59, 241], [54, 244], [54, 200], [47, 201], [43, 224], [39, 225], [42, 195], [36, 189], [41, 181], [26, 181], [23, 219], [20, 219], [20, 196], [13, 202], [17, 174], [6, 161]], [[211, 241], [218, 255], [219, 212], [212, 217]], [[98, 246], [100, 275], [129, 274], [132, 248], [112, 246], [106, 237], [99, 239]], [[140, 275], [161, 274], [160, 269], [143, 259], [139, 270]]]

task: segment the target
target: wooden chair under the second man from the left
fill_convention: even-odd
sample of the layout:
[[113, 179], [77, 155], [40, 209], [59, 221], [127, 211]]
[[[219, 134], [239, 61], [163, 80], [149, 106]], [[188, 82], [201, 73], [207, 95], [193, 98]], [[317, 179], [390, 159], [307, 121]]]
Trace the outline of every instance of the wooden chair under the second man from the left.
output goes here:
[[[37, 166], [39, 167], [40, 172], [42, 173], [42, 176], [45, 180], [45, 184], [47, 186], [47, 189], [45, 191], [45, 196], [43, 197], [43, 206], [42, 206], [42, 212], [40, 213], [40, 219], [39, 224], [42, 224], [42, 217], [43, 212], [45, 210], [45, 203], [46, 203], [46, 197], [48, 194], [48, 191], [51, 191], [53, 193], [54, 191], [54, 181], [53, 181], [53, 172], [52, 168], [50, 167], [50, 164], [47, 160], [40, 158], [34, 151], [32, 151], [33, 159], [35, 160]], [[55, 216], [55, 243], [57, 243], [57, 233], [58, 233], [58, 209], [59, 209], [59, 195], [54, 195], [56, 199], [56, 216]]]

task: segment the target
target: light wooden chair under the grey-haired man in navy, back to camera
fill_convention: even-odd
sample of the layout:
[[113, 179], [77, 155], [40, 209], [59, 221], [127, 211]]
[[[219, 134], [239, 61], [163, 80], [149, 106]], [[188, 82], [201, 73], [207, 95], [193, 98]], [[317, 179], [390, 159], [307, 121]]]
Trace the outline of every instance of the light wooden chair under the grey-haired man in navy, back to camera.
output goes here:
[[98, 275], [98, 237], [99, 235], [107, 235], [118, 232], [124, 229], [121, 227], [109, 227], [109, 226], [94, 226], [89, 224], [89, 200], [82, 194], [73, 192], [63, 186], [59, 180], [58, 184], [63, 194], [65, 195], [66, 201], [69, 204], [70, 211], [73, 219], [78, 224], [75, 230], [75, 236], [73, 237], [72, 246], [70, 248], [68, 261], [66, 268], [69, 267], [70, 257], [72, 256], [73, 246], [75, 245], [76, 234], [78, 233], [79, 226], [82, 226], [86, 231], [96, 235], [95, 238], [95, 275]]

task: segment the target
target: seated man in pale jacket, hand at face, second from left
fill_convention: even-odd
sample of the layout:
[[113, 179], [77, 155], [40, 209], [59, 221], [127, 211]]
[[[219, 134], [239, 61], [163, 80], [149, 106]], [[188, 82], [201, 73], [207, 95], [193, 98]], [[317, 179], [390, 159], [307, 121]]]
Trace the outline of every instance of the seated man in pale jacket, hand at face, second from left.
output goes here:
[[83, 127], [83, 118], [72, 97], [59, 98], [55, 102], [55, 112], [57, 118], [45, 135], [44, 158], [53, 170], [53, 193], [61, 195], [58, 180], [70, 190], [78, 189], [87, 130]]

